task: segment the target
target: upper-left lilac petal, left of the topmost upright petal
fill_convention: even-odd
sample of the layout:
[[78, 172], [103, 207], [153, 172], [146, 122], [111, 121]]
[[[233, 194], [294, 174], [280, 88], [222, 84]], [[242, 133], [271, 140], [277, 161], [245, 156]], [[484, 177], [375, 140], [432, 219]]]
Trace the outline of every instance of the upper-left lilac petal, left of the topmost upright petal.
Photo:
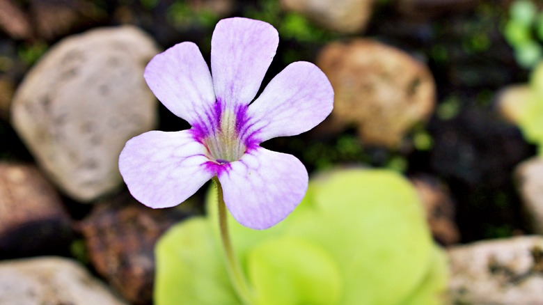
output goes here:
[[210, 69], [194, 43], [181, 42], [157, 54], [143, 77], [173, 114], [191, 125], [207, 121], [202, 116], [212, 112], [215, 93]]

